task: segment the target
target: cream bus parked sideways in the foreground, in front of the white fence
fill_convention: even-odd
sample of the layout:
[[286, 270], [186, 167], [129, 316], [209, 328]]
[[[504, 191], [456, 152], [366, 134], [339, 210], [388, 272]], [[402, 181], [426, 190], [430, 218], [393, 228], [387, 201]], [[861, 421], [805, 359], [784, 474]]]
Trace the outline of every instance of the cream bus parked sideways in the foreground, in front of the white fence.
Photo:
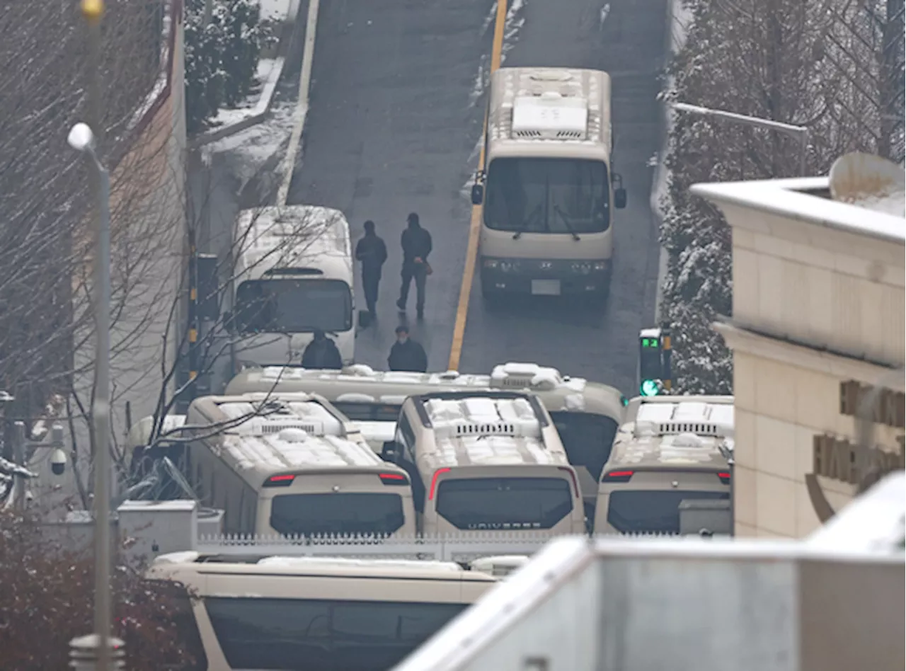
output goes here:
[[148, 575], [196, 597], [199, 671], [388, 671], [497, 582], [451, 562], [198, 552], [161, 555]]

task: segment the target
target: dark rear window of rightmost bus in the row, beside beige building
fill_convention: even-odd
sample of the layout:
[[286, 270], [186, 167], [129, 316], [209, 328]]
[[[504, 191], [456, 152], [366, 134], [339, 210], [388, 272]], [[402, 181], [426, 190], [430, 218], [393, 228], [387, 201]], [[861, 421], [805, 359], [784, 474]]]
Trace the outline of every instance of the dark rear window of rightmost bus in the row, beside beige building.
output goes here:
[[621, 533], [679, 533], [679, 503], [729, 496], [713, 491], [617, 490], [610, 495], [607, 522]]

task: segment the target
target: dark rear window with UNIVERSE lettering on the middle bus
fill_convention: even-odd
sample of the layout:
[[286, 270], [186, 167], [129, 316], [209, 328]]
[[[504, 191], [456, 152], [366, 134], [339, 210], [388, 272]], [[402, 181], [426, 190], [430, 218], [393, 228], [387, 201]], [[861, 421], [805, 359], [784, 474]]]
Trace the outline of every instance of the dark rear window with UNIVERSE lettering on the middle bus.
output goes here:
[[487, 477], [439, 484], [438, 514], [457, 529], [550, 529], [573, 512], [563, 478]]

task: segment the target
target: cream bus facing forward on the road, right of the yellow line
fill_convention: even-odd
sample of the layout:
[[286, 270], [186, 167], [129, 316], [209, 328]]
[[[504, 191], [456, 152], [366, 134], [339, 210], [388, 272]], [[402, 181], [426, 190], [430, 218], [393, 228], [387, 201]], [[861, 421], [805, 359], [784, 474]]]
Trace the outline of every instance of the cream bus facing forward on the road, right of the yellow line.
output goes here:
[[487, 298], [607, 292], [613, 210], [626, 206], [612, 149], [606, 72], [529, 67], [491, 75], [487, 171], [472, 188], [472, 202], [484, 204], [478, 253]]

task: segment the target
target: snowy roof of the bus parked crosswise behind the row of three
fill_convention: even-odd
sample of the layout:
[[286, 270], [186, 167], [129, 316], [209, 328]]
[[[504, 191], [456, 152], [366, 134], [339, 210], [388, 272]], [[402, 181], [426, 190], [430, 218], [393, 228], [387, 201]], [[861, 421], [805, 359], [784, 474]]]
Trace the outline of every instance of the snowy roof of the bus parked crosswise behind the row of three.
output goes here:
[[376, 371], [356, 364], [342, 370], [298, 367], [246, 369], [226, 387], [230, 394], [247, 391], [313, 391], [336, 402], [401, 405], [406, 397], [433, 391], [512, 389], [532, 391], [549, 412], [573, 410], [623, 421], [622, 394], [616, 388], [583, 378], [565, 376], [554, 368], [535, 363], [509, 362], [494, 367], [490, 375], [404, 373]]

